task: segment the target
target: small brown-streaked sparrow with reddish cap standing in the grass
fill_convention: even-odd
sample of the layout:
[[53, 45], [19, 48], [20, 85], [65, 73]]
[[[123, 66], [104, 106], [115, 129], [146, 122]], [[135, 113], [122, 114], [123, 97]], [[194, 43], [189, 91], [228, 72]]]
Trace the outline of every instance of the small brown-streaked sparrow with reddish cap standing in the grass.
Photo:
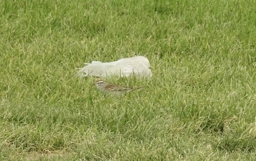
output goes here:
[[103, 80], [96, 81], [96, 87], [103, 93], [111, 94], [112, 96], [124, 96], [126, 93], [134, 90], [139, 90], [142, 87], [130, 88], [125, 86], [112, 85]]

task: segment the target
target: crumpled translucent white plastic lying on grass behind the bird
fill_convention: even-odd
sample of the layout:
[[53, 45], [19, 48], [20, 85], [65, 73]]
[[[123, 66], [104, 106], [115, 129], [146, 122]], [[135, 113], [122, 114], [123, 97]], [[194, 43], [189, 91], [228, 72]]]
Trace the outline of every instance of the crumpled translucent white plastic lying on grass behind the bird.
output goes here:
[[91, 64], [85, 64], [86, 66], [84, 68], [80, 68], [77, 73], [77, 75], [81, 78], [86, 76], [136, 76], [138, 78], [150, 78], [152, 76], [150, 62], [144, 56], [122, 58], [115, 62], [102, 63], [93, 61]]

